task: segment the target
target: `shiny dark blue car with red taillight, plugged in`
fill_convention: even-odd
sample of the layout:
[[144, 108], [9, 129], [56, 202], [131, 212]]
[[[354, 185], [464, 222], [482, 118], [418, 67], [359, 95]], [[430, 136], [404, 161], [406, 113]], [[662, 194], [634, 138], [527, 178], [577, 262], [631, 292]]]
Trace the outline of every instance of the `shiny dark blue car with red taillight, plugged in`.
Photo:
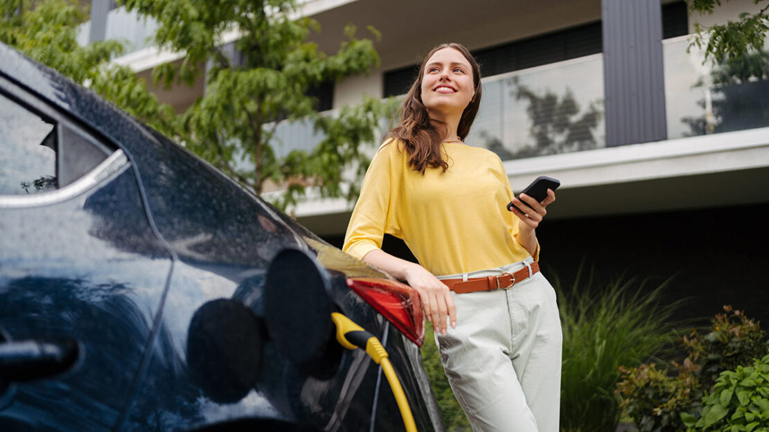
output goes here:
[[0, 430], [442, 430], [418, 296], [0, 45]]

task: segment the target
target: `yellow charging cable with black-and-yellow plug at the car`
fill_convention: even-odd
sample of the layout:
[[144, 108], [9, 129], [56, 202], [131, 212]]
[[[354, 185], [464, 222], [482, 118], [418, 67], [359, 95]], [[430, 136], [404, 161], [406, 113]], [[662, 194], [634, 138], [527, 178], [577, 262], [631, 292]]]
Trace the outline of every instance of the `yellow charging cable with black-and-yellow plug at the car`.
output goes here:
[[363, 330], [363, 327], [355, 324], [350, 318], [345, 315], [334, 312], [331, 314], [331, 321], [334, 321], [337, 327], [337, 341], [342, 347], [348, 350], [355, 350], [355, 348], [363, 348], [369, 357], [376, 363], [381, 364], [384, 376], [387, 377], [392, 394], [395, 395], [395, 402], [398, 403], [398, 409], [401, 410], [401, 417], [403, 417], [403, 424], [406, 427], [407, 432], [416, 432], [417, 426], [414, 424], [414, 416], [411, 414], [411, 408], [408, 407], [408, 400], [406, 400], [406, 394], [401, 387], [401, 382], [395, 375], [395, 370], [388, 359], [387, 351], [384, 351], [384, 347], [381, 342], [373, 334]]

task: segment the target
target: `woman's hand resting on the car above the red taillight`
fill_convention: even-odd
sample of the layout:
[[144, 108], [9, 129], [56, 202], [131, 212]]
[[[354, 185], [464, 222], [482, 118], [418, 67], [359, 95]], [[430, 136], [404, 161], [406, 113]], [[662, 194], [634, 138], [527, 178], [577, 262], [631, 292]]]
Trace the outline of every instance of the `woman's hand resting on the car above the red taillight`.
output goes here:
[[454, 298], [451, 297], [451, 291], [446, 284], [419, 264], [409, 266], [405, 276], [408, 284], [419, 293], [424, 315], [428, 321], [432, 322], [435, 331], [446, 334], [448, 330], [447, 316], [451, 320], [451, 327], [457, 327]]

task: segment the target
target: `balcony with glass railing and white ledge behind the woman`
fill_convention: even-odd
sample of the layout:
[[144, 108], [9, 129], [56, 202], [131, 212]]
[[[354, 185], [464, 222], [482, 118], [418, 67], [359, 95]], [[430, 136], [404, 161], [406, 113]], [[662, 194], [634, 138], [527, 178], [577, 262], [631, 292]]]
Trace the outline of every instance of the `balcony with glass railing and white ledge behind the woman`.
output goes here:
[[[559, 205], [549, 218], [766, 202], [769, 59], [752, 65], [763, 67], [762, 78], [743, 72], [737, 79], [703, 64], [696, 49], [687, 52], [688, 38], [663, 41], [664, 141], [606, 147], [601, 54], [484, 78], [466, 141], [497, 153], [516, 191], [541, 174], [559, 178]], [[313, 201], [295, 214], [333, 234], [349, 207]]]

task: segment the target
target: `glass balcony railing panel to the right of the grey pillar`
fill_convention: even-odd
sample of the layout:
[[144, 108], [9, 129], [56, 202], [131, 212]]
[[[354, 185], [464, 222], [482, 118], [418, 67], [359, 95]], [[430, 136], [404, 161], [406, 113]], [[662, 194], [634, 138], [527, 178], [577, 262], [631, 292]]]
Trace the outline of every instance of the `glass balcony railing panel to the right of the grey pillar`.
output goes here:
[[769, 40], [746, 61], [711, 65], [689, 36], [662, 42], [667, 138], [769, 126]]

